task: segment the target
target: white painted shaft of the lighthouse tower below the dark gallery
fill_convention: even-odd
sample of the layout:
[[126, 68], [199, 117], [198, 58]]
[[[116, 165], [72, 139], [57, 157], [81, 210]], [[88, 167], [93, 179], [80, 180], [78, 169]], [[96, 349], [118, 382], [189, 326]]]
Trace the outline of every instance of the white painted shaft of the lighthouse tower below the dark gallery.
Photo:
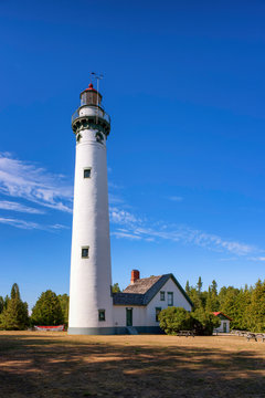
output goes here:
[[[76, 143], [75, 159], [70, 327], [113, 326], [106, 143], [97, 143], [93, 129], [80, 133], [82, 138]], [[87, 167], [92, 168], [91, 178], [84, 178]], [[89, 259], [82, 259], [81, 250], [86, 245]], [[106, 311], [105, 322], [98, 322], [98, 310]]]

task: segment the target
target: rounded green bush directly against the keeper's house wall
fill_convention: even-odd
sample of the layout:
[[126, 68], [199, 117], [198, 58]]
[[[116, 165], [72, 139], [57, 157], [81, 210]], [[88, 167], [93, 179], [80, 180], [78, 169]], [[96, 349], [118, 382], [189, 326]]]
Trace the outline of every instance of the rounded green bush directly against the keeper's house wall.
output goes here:
[[191, 314], [182, 307], [168, 307], [158, 315], [159, 325], [167, 334], [174, 335], [179, 331], [192, 328]]

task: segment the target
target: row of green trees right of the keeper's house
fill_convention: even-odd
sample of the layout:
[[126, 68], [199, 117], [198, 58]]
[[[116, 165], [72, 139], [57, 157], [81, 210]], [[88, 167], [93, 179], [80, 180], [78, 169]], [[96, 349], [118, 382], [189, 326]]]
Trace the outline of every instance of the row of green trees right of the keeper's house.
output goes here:
[[223, 286], [220, 291], [218, 283], [212, 281], [203, 291], [200, 276], [195, 286], [190, 286], [187, 281], [186, 292], [194, 304], [194, 311], [221, 311], [232, 318], [231, 328], [265, 332], [265, 281], [258, 280], [254, 286], [241, 289]]

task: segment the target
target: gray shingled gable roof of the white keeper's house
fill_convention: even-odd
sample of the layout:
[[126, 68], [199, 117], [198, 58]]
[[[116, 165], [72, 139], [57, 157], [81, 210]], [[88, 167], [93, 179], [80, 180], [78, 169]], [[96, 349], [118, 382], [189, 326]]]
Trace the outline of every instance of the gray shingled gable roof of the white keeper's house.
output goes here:
[[190, 297], [173, 274], [144, 277], [136, 281], [132, 285], [127, 286], [123, 293], [114, 293], [114, 305], [147, 305], [170, 277], [177, 284], [186, 300], [193, 306]]

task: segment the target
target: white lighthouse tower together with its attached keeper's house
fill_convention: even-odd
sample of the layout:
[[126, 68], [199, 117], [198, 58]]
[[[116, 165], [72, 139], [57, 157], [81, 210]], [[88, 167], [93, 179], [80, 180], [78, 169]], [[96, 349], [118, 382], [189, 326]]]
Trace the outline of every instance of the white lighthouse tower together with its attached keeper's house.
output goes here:
[[192, 303], [172, 274], [140, 279], [134, 270], [123, 293], [112, 292], [107, 188], [110, 117], [91, 83], [72, 116], [76, 139], [68, 334], [159, 332], [168, 306]]

